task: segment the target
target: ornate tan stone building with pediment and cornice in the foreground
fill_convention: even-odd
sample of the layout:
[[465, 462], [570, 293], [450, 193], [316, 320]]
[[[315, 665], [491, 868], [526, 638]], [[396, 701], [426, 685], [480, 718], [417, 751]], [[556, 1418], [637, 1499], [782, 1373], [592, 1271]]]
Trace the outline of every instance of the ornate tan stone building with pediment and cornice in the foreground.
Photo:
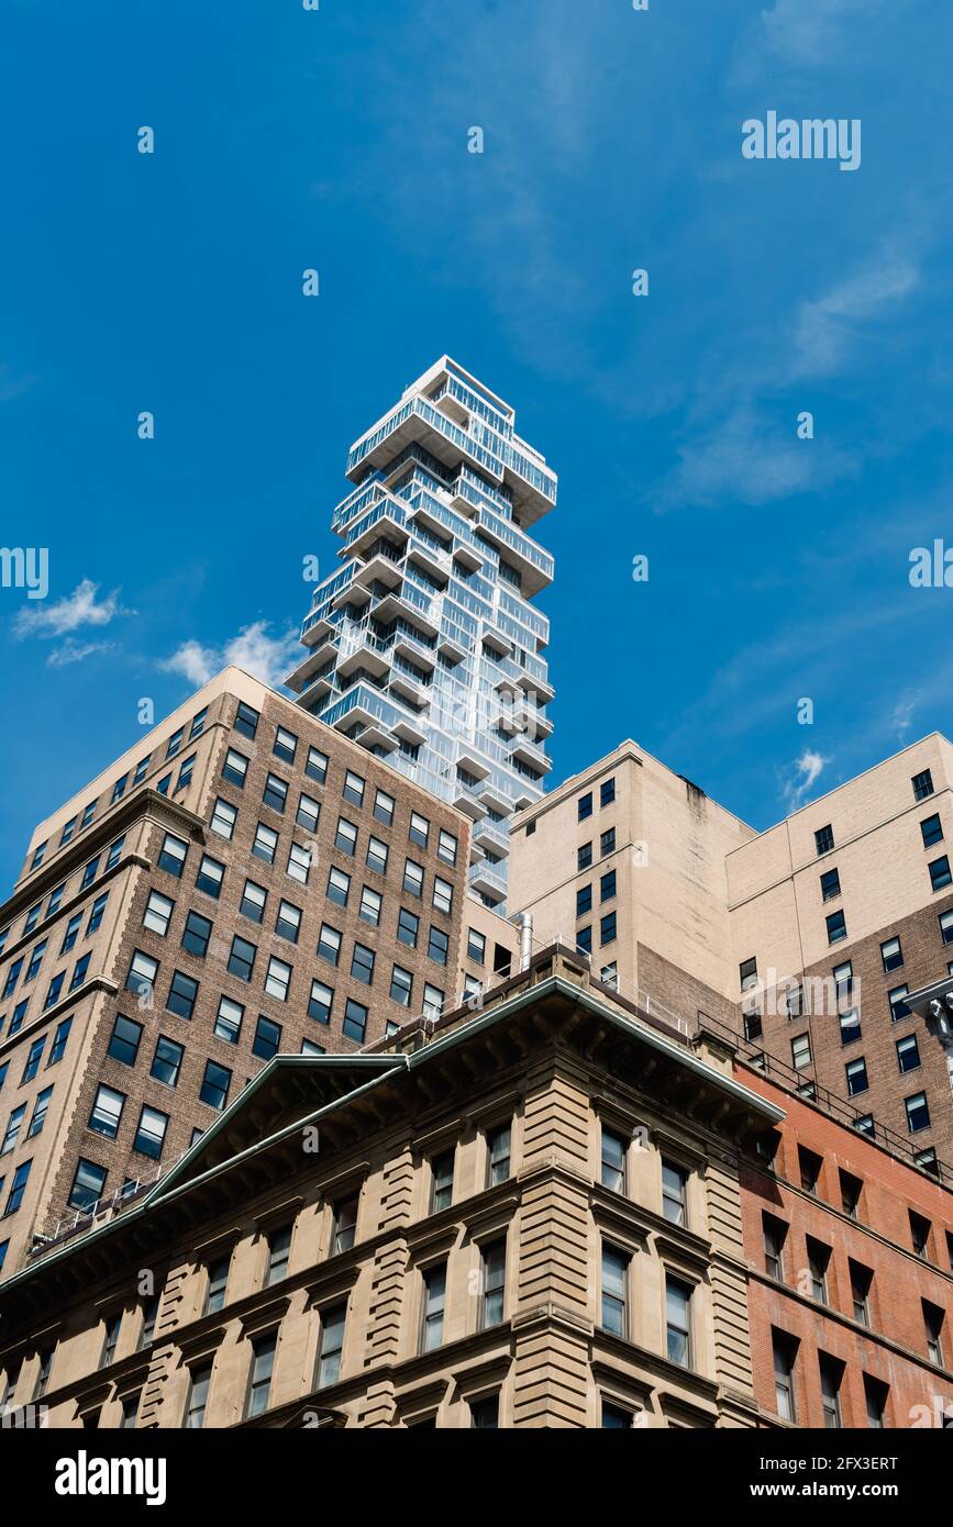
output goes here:
[[739, 1153], [782, 1110], [557, 948], [362, 1055], [281, 1055], [0, 1287], [52, 1426], [753, 1426]]

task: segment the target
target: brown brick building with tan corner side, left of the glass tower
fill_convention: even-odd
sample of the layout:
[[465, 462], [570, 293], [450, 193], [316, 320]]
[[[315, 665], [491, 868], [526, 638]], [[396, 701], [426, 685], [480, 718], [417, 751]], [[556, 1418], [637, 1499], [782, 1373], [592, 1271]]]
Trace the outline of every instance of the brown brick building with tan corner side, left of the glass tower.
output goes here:
[[234, 667], [43, 822], [0, 907], [5, 1275], [278, 1051], [354, 1051], [506, 971], [469, 832]]

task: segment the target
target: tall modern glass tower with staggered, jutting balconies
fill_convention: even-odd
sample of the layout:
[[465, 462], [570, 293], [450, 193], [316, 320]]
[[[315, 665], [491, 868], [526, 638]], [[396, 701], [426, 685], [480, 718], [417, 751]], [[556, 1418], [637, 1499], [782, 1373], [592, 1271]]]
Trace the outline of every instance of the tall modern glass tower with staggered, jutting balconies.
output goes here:
[[315, 589], [287, 684], [299, 704], [473, 818], [472, 889], [506, 901], [507, 818], [542, 794], [553, 690], [527, 533], [556, 478], [449, 356], [350, 452], [342, 567]]

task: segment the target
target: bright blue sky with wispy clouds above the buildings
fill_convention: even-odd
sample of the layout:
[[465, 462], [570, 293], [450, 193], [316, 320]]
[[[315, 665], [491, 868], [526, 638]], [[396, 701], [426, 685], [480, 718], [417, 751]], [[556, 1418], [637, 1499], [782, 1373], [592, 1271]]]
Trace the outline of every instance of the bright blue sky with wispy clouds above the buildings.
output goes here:
[[[50, 592], [0, 589], [0, 881], [139, 698], [283, 670], [347, 446], [443, 351], [560, 478], [554, 780], [632, 736], [764, 828], [948, 733], [907, 574], [953, 545], [950, 41], [935, 0], [8, 0], [0, 539]], [[768, 110], [860, 118], [860, 168], [745, 160]]]

